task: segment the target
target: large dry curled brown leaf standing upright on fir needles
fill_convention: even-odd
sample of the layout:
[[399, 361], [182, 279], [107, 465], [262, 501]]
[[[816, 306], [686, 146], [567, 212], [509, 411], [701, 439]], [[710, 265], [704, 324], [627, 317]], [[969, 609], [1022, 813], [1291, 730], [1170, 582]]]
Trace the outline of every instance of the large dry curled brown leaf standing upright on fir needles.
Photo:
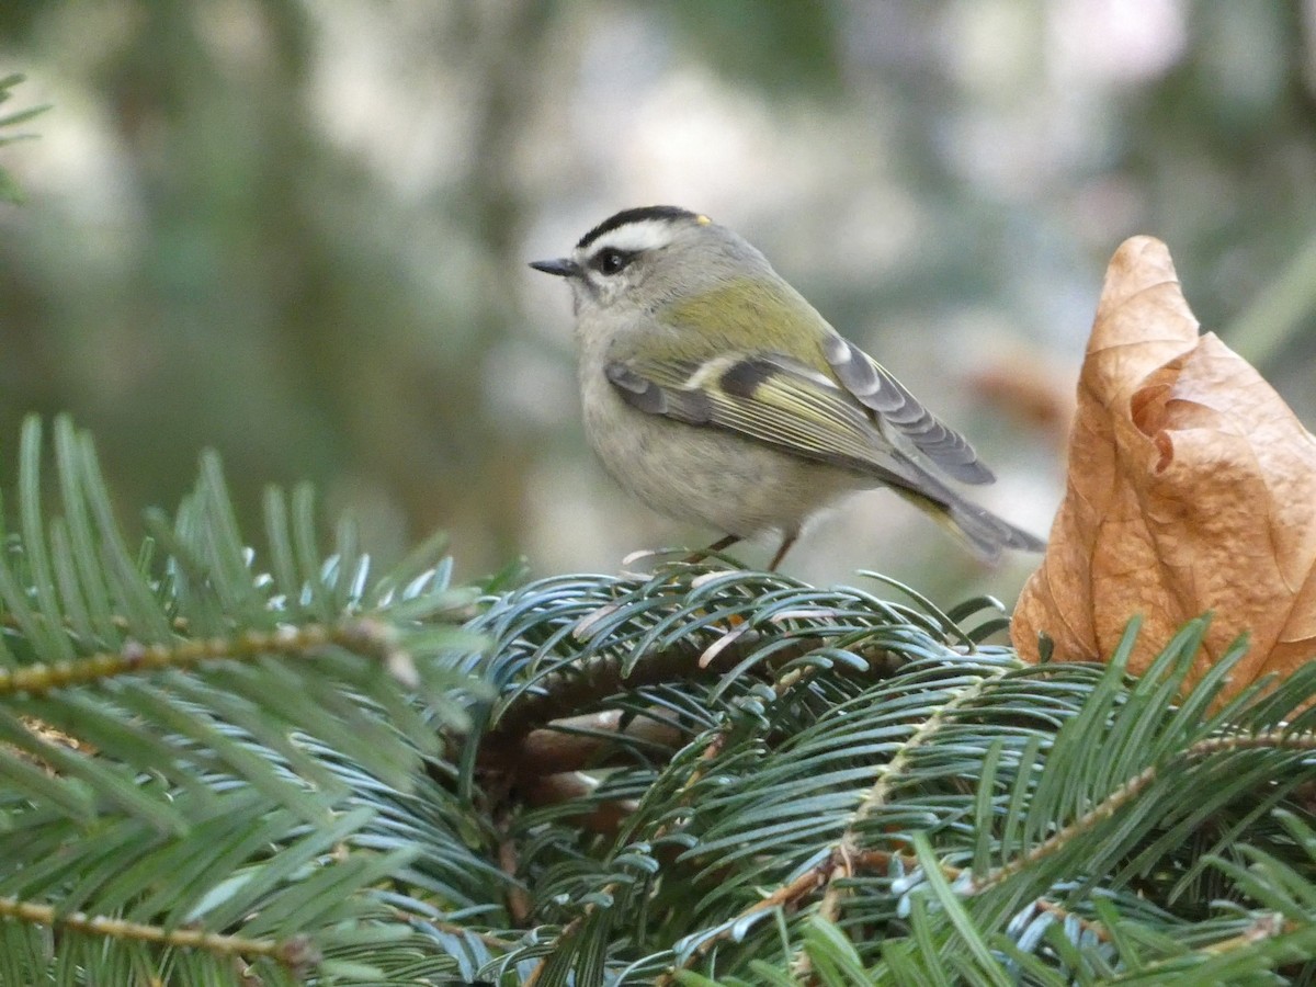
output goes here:
[[1111, 259], [1078, 386], [1069, 482], [1011, 636], [1104, 659], [1144, 616], [1142, 671], [1215, 612], [1190, 682], [1244, 630], [1229, 692], [1316, 657], [1316, 438], [1241, 357], [1198, 334], [1165, 243]]

